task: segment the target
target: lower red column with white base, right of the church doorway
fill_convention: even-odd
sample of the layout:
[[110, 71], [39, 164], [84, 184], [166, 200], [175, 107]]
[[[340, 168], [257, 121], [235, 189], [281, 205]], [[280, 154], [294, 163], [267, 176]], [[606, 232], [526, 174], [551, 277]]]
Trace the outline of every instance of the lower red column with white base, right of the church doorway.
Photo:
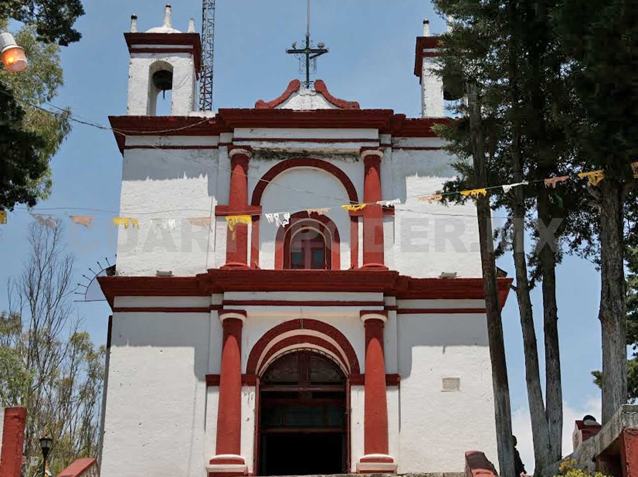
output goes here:
[[392, 473], [397, 464], [388, 455], [388, 404], [385, 391], [383, 327], [387, 312], [361, 312], [366, 328], [366, 384], [364, 399], [364, 456], [359, 473]]

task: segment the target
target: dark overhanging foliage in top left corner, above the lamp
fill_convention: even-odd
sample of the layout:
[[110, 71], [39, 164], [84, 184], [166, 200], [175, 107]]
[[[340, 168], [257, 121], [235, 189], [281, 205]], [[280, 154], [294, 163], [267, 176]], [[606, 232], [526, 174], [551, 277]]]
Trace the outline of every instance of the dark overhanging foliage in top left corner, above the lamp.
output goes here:
[[0, 0], [0, 20], [14, 19], [33, 25], [38, 40], [66, 46], [77, 42], [82, 34], [73, 29], [84, 15], [80, 0]]

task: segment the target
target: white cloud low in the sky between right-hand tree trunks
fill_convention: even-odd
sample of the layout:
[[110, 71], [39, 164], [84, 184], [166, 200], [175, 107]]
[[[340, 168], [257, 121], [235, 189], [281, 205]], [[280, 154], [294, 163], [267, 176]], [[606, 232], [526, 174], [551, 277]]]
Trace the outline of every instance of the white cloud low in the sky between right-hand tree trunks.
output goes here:
[[[590, 396], [575, 407], [563, 401], [563, 457], [573, 451], [572, 432], [574, 421], [580, 420], [586, 414], [591, 414], [600, 421], [600, 397]], [[512, 432], [518, 441], [517, 449], [521, 454], [523, 464], [528, 474], [534, 471], [534, 446], [531, 440], [530, 410], [527, 406], [512, 412]]]

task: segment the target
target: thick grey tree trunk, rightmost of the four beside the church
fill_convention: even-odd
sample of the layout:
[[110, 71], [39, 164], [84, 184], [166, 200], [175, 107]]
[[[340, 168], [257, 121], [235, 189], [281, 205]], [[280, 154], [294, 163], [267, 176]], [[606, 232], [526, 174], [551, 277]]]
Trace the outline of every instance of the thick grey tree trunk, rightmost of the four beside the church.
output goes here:
[[600, 326], [602, 423], [627, 403], [627, 294], [623, 257], [623, 185], [605, 178], [600, 190]]

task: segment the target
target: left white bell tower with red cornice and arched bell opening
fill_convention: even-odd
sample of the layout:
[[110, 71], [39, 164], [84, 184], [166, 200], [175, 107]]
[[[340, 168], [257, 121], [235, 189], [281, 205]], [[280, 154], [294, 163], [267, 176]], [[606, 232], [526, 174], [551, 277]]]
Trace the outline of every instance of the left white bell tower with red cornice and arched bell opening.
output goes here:
[[161, 27], [137, 31], [137, 15], [131, 16], [131, 31], [124, 33], [130, 53], [128, 70], [128, 116], [156, 116], [158, 95], [171, 92], [171, 116], [188, 116], [195, 110], [197, 79], [201, 61], [195, 20], [188, 32], [172, 27], [171, 6], [164, 9]]

